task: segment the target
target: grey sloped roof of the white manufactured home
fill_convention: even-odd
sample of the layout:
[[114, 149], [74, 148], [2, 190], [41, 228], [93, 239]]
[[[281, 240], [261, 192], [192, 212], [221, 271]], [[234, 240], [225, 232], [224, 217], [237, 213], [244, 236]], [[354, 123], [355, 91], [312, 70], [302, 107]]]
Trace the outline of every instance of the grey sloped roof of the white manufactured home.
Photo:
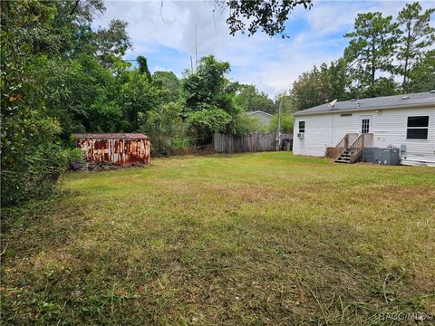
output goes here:
[[420, 106], [425, 104], [435, 105], [435, 91], [425, 91], [420, 93], [382, 96], [370, 99], [337, 101], [333, 108], [327, 103], [318, 105], [314, 108], [295, 112], [295, 116], [317, 113], [331, 113], [334, 111], [347, 110], [380, 110], [384, 108], [406, 108], [412, 105]]

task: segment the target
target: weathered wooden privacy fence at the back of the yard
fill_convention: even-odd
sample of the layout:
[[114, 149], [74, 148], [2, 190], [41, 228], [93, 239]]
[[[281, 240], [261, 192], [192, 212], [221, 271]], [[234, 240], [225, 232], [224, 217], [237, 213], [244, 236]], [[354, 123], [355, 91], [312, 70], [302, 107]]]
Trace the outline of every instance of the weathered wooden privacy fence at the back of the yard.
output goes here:
[[[281, 134], [280, 149], [286, 139], [292, 143], [292, 134]], [[276, 149], [276, 134], [255, 133], [244, 136], [216, 134], [213, 136], [213, 149], [217, 153], [241, 153], [256, 151], [272, 151]]]

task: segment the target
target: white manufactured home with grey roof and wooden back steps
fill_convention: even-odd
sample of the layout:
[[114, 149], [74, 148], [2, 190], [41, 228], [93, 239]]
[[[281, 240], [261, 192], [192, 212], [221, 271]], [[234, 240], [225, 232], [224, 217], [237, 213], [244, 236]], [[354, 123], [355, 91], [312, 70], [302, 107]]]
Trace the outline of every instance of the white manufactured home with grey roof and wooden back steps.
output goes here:
[[295, 113], [295, 154], [322, 157], [337, 149], [336, 161], [353, 163], [363, 148], [397, 148], [401, 164], [435, 166], [435, 91], [337, 101]]

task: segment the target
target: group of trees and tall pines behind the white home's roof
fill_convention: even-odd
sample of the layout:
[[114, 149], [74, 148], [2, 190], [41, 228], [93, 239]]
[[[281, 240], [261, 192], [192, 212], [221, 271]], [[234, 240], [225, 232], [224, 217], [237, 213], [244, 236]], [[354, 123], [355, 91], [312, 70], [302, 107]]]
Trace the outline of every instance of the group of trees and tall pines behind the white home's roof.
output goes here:
[[294, 82], [295, 110], [325, 101], [388, 96], [435, 89], [435, 29], [418, 2], [397, 15], [358, 14], [343, 58], [314, 66]]

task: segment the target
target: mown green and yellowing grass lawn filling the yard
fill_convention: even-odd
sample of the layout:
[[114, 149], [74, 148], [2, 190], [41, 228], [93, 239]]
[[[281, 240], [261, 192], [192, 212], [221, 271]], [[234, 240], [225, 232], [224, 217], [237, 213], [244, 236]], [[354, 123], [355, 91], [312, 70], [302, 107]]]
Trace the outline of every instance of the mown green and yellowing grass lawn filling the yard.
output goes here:
[[[3, 221], [5, 324], [395, 324], [435, 313], [435, 169], [291, 153], [71, 173]], [[414, 321], [403, 321], [413, 324]]]

